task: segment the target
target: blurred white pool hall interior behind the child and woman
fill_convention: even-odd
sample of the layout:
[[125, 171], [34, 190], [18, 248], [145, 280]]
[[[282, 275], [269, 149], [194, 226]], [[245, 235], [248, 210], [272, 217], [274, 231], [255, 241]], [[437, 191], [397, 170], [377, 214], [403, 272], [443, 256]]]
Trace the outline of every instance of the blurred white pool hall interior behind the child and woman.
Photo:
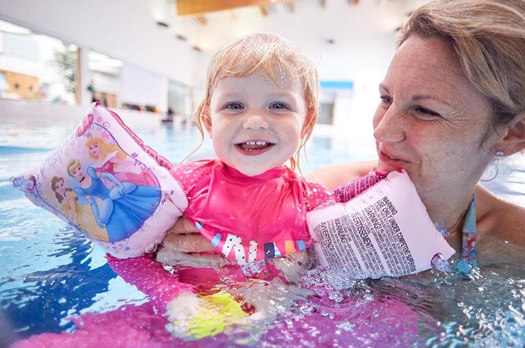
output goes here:
[[262, 31], [292, 40], [317, 63], [317, 132], [369, 148], [395, 35], [424, 2], [0, 0], [0, 116], [77, 120], [99, 101], [144, 119], [172, 110], [174, 122], [190, 123], [211, 55]]

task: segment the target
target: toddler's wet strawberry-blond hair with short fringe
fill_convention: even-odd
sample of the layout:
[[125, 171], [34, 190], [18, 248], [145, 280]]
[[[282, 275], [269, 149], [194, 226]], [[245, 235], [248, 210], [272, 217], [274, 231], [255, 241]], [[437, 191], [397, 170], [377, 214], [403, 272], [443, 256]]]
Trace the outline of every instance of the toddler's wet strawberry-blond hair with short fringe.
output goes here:
[[303, 131], [306, 132], [301, 134], [301, 144], [297, 153], [290, 158], [292, 170], [299, 168], [299, 153], [310, 138], [319, 114], [317, 104], [319, 80], [312, 60], [290, 41], [278, 35], [265, 33], [245, 35], [215, 53], [208, 66], [206, 94], [194, 114], [194, 121], [201, 132], [202, 139], [204, 132], [201, 116], [208, 116], [203, 112], [210, 105], [210, 98], [217, 83], [224, 78], [242, 78], [251, 73], [263, 73], [276, 85], [281, 84], [283, 78], [299, 78], [303, 81], [303, 97], [307, 110]]

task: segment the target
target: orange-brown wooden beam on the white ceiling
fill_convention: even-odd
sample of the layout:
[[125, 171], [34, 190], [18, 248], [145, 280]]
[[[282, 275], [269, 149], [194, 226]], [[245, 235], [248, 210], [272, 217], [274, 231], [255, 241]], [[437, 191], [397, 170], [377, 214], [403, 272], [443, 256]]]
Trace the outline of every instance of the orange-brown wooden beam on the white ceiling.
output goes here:
[[294, 0], [177, 0], [179, 16], [197, 15], [199, 13], [217, 12], [245, 6], [266, 6], [272, 3], [289, 3]]

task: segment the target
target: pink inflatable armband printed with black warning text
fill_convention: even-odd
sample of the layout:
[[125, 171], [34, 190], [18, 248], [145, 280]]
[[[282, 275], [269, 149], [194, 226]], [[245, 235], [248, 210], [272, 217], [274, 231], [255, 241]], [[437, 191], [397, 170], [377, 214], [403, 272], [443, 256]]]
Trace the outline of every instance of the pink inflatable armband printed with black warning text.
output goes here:
[[343, 200], [353, 198], [307, 214], [319, 265], [354, 278], [400, 277], [432, 263], [445, 270], [440, 260], [454, 250], [435, 229], [408, 174], [382, 176], [373, 173], [338, 188]]

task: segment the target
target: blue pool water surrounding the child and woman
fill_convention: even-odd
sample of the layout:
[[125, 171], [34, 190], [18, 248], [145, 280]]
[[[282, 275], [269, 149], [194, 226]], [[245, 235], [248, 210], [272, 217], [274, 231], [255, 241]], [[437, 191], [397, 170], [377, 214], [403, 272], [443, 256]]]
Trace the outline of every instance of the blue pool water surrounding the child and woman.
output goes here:
[[[61, 139], [65, 139], [70, 132], [68, 125], [20, 128], [7, 123], [2, 128], [0, 347], [39, 333], [72, 332], [75, 326], [67, 320], [72, 314], [91, 311], [102, 313], [113, 311], [124, 304], [139, 305], [146, 302], [146, 295], [133, 285], [126, 284], [108, 266], [99, 249], [93, 248], [92, 243], [83, 236], [74, 234], [58, 218], [33, 206], [22, 193], [12, 189], [8, 182], [12, 175], [40, 164], [49, 151], [58, 146]], [[192, 127], [174, 128], [172, 125], [152, 124], [151, 127], [141, 127], [135, 131], [145, 143], [173, 162], [188, 155], [199, 143], [199, 134]], [[307, 173], [324, 164], [367, 159], [371, 155], [370, 150], [356, 151], [355, 146], [347, 146], [346, 150], [345, 141], [347, 139], [328, 136], [310, 139], [308, 163], [303, 162], [303, 172]], [[205, 141], [193, 158], [212, 156], [210, 142]], [[487, 187], [503, 198], [525, 205], [525, 169], [522, 160], [517, 157], [506, 166], [501, 166], [499, 172], [497, 180], [489, 182]], [[315, 281], [321, 284], [322, 275], [317, 275]], [[414, 338], [413, 341], [419, 342], [416, 345], [525, 346], [523, 264], [497, 261], [488, 263], [473, 281], [434, 275], [433, 272], [403, 279], [358, 281], [348, 290], [334, 291], [330, 296], [332, 302], [320, 303], [318, 299], [313, 299], [307, 307], [319, 313], [324, 311], [322, 316], [326, 320], [330, 320], [335, 313], [333, 320], [337, 320], [338, 313], [352, 313], [360, 303], [399, 299], [408, 304], [419, 313], [420, 338]], [[352, 304], [351, 307], [342, 305], [353, 300], [357, 304]], [[281, 313], [282, 317], [287, 315]], [[381, 332], [374, 333], [373, 316], [372, 313], [371, 337], [381, 336]], [[381, 317], [377, 320], [381, 320]], [[279, 322], [283, 323], [283, 336], [293, 337], [293, 329], [286, 329], [285, 322]], [[344, 332], [351, 331], [355, 323], [349, 320], [336, 324]], [[323, 336], [323, 326], [314, 329]], [[334, 335], [335, 333], [326, 333], [326, 342], [312, 339], [301, 341], [297, 345], [308, 346], [308, 342], [313, 342], [313, 346], [315, 342], [333, 345], [335, 341], [331, 339]], [[379, 341], [405, 347], [407, 340], [410, 342], [410, 338]], [[273, 346], [269, 342], [271, 341], [262, 340], [259, 343]], [[374, 341], [343, 341], [339, 344], [361, 347], [366, 346], [366, 342]]]

